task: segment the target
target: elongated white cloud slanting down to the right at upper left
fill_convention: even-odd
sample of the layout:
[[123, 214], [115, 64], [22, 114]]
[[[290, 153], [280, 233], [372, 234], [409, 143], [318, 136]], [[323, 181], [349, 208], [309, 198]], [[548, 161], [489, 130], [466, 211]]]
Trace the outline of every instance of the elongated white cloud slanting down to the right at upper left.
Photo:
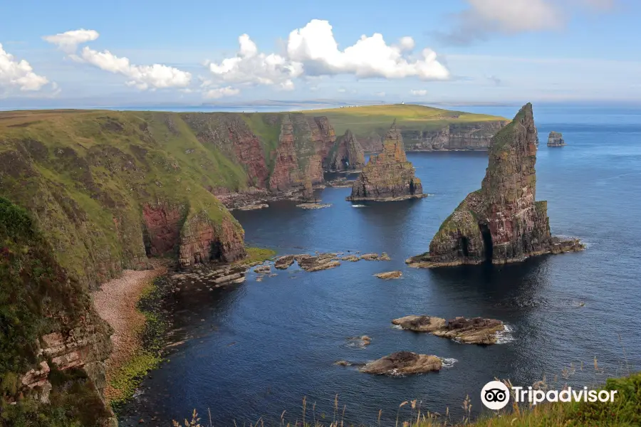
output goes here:
[[98, 52], [88, 46], [78, 55], [78, 44], [96, 40], [98, 36], [100, 34], [97, 31], [80, 29], [58, 33], [55, 36], [44, 36], [43, 39], [56, 44], [76, 62], [88, 63], [101, 70], [124, 75], [127, 78], [127, 86], [134, 86], [140, 90], [187, 88], [191, 83], [191, 73], [168, 65], [134, 65], [130, 63], [129, 58], [115, 56], [110, 51]]

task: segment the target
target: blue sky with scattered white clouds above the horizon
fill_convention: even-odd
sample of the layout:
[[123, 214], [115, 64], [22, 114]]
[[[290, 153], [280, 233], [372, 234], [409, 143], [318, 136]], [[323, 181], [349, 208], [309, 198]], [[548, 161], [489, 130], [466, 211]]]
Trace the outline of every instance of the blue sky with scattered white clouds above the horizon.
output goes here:
[[0, 107], [641, 100], [638, 0], [21, 0], [3, 9]]

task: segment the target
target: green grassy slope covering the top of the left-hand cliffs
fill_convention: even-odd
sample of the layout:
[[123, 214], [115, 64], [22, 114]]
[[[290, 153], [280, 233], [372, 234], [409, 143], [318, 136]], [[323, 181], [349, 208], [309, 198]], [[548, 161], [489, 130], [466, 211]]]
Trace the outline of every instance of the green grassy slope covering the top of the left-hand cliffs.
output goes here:
[[244, 168], [176, 113], [0, 113], [0, 196], [23, 206], [74, 277], [97, 285], [145, 260], [142, 206], [239, 223], [208, 189], [243, 189]]

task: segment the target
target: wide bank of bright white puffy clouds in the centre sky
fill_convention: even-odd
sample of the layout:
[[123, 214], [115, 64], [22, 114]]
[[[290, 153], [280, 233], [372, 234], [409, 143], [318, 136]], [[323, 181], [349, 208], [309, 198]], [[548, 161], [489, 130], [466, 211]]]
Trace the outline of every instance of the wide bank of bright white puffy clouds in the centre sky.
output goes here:
[[284, 43], [286, 53], [261, 53], [249, 35], [239, 37], [239, 51], [233, 58], [207, 61], [214, 83], [231, 85], [269, 85], [292, 90], [296, 78], [326, 75], [354, 75], [358, 78], [407, 78], [445, 80], [447, 68], [436, 53], [423, 49], [416, 56], [413, 38], [400, 38], [388, 45], [382, 34], [362, 36], [353, 46], [338, 48], [328, 21], [313, 19], [298, 28]]

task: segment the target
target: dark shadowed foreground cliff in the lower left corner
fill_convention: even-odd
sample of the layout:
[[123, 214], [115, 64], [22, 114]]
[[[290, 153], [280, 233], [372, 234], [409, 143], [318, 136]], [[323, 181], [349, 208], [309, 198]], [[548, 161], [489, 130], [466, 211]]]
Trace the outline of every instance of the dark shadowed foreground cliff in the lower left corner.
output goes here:
[[110, 328], [87, 289], [61, 268], [31, 216], [4, 198], [0, 241], [2, 425], [113, 421], [102, 397]]

